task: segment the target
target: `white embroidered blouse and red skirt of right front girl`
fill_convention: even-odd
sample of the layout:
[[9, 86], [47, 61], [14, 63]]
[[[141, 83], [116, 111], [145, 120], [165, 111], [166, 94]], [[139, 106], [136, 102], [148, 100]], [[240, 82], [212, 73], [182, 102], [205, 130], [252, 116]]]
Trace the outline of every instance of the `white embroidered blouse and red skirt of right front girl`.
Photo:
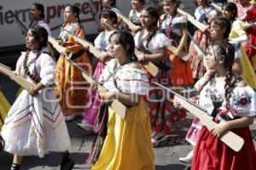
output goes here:
[[[211, 86], [212, 83], [213, 82], [209, 82], [201, 90], [199, 101], [200, 105], [203, 106], [208, 113], [213, 110], [211, 106], [211, 95], [213, 93], [216, 94], [215, 100], [218, 100], [218, 96], [221, 96], [219, 94], [223, 94], [224, 92], [224, 84], [218, 82], [215, 86]], [[218, 120], [219, 122], [224, 120], [228, 121], [234, 117], [253, 117], [256, 114], [255, 102], [256, 93], [253, 88], [248, 86], [236, 87], [232, 90], [232, 96], [230, 97], [230, 110], [226, 110], [226, 102], [224, 99], [214, 120]], [[229, 119], [227, 119], [227, 117]], [[245, 143], [238, 152], [230, 149], [228, 145], [214, 137], [207, 127], [203, 126], [196, 140], [191, 169], [255, 170], [256, 152], [249, 127], [230, 129], [230, 131], [244, 139]]]

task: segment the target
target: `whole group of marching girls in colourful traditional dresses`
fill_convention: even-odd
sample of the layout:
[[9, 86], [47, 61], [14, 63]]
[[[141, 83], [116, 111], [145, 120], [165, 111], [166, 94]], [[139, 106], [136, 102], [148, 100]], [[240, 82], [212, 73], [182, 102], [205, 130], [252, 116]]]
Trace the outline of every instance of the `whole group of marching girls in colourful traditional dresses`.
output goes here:
[[[58, 54], [49, 43], [44, 5], [32, 4], [27, 51], [21, 52], [15, 73], [35, 85], [21, 89], [12, 106], [0, 96], [0, 150], [14, 155], [11, 170], [20, 169], [24, 156], [44, 157], [49, 151], [62, 153], [61, 170], [72, 169], [66, 122], [76, 116], [83, 116], [80, 128], [96, 133], [86, 160], [91, 169], [154, 169], [153, 146], [168, 141], [173, 123], [186, 117], [182, 103], [157, 83], [177, 94], [193, 88], [190, 101], [218, 123], [208, 129], [195, 117], [186, 136], [194, 150], [180, 161], [195, 170], [256, 169], [249, 129], [256, 115], [256, 3], [213, 1], [219, 10], [195, 0], [191, 19], [178, 12], [177, 0], [131, 0], [133, 27], [115, 3], [102, 0], [102, 11], [92, 14], [101, 22], [94, 40], [97, 55], [76, 41], [86, 39], [79, 7], [65, 8], [56, 40], [65, 53]], [[191, 36], [188, 20], [208, 28]], [[125, 117], [113, 100], [125, 106]], [[241, 150], [220, 140], [228, 131], [244, 140]]]

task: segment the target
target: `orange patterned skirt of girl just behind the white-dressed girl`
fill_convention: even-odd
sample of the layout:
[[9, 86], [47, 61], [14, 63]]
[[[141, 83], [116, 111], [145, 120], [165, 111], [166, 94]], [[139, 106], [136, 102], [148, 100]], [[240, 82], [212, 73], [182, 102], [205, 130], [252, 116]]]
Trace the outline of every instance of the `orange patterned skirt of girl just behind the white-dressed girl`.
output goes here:
[[[91, 71], [90, 60], [86, 54], [73, 59], [73, 62], [79, 64], [84, 71]], [[65, 116], [84, 112], [90, 84], [84, 79], [82, 72], [62, 55], [55, 67], [55, 85], [55, 96], [60, 100], [61, 110]]]

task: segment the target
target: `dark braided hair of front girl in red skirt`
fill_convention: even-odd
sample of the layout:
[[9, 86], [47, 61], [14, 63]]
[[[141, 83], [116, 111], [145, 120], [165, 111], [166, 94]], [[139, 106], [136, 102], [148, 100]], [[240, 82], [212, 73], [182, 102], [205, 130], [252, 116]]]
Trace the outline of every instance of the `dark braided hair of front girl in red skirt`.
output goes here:
[[224, 68], [227, 72], [225, 78], [225, 99], [226, 99], [226, 108], [230, 108], [230, 97], [232, 94], [232, 89], [235, 86], [235, 82], [233, 81], [233, 73], [232, 73], [232, 65], [235, 59], [235, 48], [234, 46], [225, 40], [216, 41], [212, 44], [212, 49], [215, 58], [218, 56], [224, 56]]

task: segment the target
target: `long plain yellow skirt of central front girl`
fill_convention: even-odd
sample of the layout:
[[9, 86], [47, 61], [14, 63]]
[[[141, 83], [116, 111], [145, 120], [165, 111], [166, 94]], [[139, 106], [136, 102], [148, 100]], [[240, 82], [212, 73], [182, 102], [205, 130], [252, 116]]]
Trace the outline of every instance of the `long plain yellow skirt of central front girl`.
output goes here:
[[127, 111], [125, 119], [108, 109], [108, 135], [92, 170], [153, 170], [154, 151], [147, 105]]

